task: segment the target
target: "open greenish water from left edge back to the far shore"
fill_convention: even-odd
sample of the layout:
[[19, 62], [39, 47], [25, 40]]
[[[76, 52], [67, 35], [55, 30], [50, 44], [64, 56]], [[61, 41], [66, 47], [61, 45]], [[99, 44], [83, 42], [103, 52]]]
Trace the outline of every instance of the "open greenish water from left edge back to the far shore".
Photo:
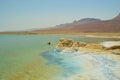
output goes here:
[[[29, 77], [36, 74], [36, 79], [31, 78], [31, 80], [37, 80], [38, 77], [44, 80], [44, 73], [48, 74], [45, 77], [49, 80], [52, 77], [52, 74], [55, 75], [58, 72], [58, 74], [61, 74], [62, 72], [60, 71], [63, 69], [60, 67], [62, 67], [62, 65], [57, 66], [51, 63], [49, 64], [52, 66], [45, 65], [47, 59], [40, 56], [40, 53], [53, 50], [60, 38], [70, 38], [76, 41], [85, 42], [110, 40], [107, 38], [86, 38], [74, 35], [0, 35], [0, 80], [16, 80], [14, 77], [17, 78], [17, 80], [27, 80], [24, 77], [27, 76], [28, 78], [28, 71], [30, 70], [31, 73], [29, 73]], [[52, 42], [50, 46], [47, 45], [49, 41]], [[56, 61], [53, 63], [56, 64]], [[77, 66], [74, 67], [76, 69], [79, 68]], [[68, 66], [65, 68], [69, 71]], [[36, 72], [34, 69], [36, 69]], [[53, 73], [51, 73], [49, 69], [53, 69]], [[58, 69], [60, 71], [57, 71]], [[71, 72], [74, 73], [74, 71]]]

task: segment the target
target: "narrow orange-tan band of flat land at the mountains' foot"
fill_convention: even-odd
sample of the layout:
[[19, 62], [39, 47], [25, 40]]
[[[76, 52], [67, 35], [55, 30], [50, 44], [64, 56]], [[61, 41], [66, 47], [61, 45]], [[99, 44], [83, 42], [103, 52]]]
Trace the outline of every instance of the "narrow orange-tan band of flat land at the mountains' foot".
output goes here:
[[[55, 31], [21, 31], [21, 32], [0, 32], [0, 34], [71, 34], [71, 35], [87, 35], [93, 36], [119, 36], [120, 32], [55, 32]], [[93, 36], [91, 36], [93, 35]]]

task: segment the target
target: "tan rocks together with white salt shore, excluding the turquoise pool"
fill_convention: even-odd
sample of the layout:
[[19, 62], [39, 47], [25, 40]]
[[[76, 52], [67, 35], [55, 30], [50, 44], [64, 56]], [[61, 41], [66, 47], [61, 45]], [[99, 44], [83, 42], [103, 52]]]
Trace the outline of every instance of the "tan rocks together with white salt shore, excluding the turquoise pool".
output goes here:
[[[116, 42], [116, 41], [115, 41]], [[101, 43], [102, 44], [102, 43]], [[62, 54], [72, 55], [72, 59], [82, 63], [82, 71], [65, 80], [118, 80], [120, 79], [120, 41], [119, 47], [107, 49], [99, 43], [75, 42], [61, 39], [56, 49]], [[113, 47], [113, 48], [112, 48]], [[73, 68], [74, 69], [74, 68]], [[95, 74], [94, 74], [95, 73]]]

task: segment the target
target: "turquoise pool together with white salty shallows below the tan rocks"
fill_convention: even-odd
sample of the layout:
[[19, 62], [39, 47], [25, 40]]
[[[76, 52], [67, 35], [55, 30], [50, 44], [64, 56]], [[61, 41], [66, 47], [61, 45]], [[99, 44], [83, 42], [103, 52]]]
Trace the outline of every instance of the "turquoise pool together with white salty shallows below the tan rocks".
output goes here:
[[65, 73], [61, 80], [120, 80], [118, 55], [49, 51], [41, 54], [46, 65], [59, 65]]

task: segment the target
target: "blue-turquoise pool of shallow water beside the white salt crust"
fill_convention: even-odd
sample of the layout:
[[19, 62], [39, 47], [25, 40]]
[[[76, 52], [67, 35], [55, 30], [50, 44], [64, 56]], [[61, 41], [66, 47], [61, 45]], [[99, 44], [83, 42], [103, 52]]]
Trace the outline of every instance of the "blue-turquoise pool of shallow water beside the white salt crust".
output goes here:
[[57, 51], [48, 51], [41, 54], [45, 59], [48, 60], [46, 65], [59, 65], [64, 70], [63, 77], [69, 77], [71, 75], [77, 74], [80, 70], [82, 71], [81, 63], [73, 60], [73, 55], [60, 54]]

